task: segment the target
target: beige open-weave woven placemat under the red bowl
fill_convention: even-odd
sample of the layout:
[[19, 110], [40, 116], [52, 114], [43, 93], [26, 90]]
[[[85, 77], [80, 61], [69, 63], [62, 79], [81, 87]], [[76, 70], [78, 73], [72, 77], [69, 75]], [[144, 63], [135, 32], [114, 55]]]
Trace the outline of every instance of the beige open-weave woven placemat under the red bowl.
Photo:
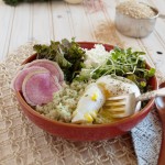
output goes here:
[[0, 63], [0, 165], [136, 165], [130, 133], [70, 142], [38, 129], [22, 113], [11, 80], [32, 47], [23, 45]]

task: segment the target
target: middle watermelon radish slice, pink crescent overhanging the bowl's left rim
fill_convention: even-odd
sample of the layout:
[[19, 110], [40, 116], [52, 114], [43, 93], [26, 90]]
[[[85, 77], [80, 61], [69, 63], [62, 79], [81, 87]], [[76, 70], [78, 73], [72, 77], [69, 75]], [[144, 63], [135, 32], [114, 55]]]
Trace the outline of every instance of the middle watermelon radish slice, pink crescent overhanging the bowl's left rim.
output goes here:
[[26, 77], [28, 74], [36, 72], [36, 70], [43, 70], [43, 72], [50, 72], [44, 67], [40, 66], [33, 66], [29, 68], [23, 68], [22, 70], [19, 70], [15, 77], [13, 78], [11, 86], [13, 90], [21, 91], [22, 90], [22, 84], [24, 78]]

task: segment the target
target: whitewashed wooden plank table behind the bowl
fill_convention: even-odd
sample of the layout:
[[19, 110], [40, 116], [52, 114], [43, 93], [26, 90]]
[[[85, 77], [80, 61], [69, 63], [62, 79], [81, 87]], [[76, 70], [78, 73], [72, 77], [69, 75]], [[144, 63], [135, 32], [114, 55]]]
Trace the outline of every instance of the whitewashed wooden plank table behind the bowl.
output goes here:
[[[143, 1], [157, 7], [165, 14], [164, 0]], [[116, 4], [119, 2], [84, 0], [81, 4], [68, 4], [54, 0], [10, 7], [1, 0], [0, 62], [29, 42], [48, 43], [51, 40], [76, 37], [76, 41], [102, 42], [145, 51], [150, 65], [165, 76], [165, 20], [158, 18], [154, 32], [145, 38], [123, 36], [114, 26]], [[132, 164], [135, 163], [132, 161]]]

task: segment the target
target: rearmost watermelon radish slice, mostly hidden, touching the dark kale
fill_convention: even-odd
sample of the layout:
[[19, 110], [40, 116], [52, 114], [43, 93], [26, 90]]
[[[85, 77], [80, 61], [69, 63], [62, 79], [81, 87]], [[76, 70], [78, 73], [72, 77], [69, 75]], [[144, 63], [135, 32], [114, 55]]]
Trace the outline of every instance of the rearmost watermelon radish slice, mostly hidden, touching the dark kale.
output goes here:
[[32, 63], [26, 64], [25, 67], [32, 67], [32, 66], [41, 66], [48, 69], [53, 76], [56, 76], [58, 78], [59, 84], [63, 84], [64, 74], [57, 63], [48, 59], [36, 59], [33, 61]]

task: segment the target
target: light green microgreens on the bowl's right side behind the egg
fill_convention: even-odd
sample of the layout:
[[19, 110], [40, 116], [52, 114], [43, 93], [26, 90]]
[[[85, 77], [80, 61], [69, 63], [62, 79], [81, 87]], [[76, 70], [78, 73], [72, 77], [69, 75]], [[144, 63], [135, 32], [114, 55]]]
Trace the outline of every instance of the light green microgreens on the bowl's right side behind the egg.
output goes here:
[[89, 77], [98, 79], [103, 75], [117, 75], [133, 80], [140, 90], [144, 92], [148, 88], [148, 79], [154, 76], [155, 69], [147, 69], [146, 62], [142, 58], [142, 55], [145, 55], [145, 53], [133, 52], [131, 47], [128, 50], [114, 47], [105, 64], [97, 68], [82, 69], [77, 79], [86, 80]]

